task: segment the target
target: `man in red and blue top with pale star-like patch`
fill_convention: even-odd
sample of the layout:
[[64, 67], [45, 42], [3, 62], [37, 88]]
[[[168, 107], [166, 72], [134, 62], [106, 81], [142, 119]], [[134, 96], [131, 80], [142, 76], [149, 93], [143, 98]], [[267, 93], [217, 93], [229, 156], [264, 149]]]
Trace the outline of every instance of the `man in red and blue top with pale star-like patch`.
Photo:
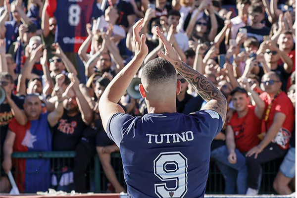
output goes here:
[[[58, 95], [61, 96], [61, 93]], [[51, 150], [49, 125], [54, 124], [54, 118], [63, 110], [58, 101], [55, 106], [52, 112], [42, 113], [42, 102], [39, 97], [34, 94], [28, 95], [24, 103], [27, 119], [25, 125], [19, 124], [16, 118], [13, 118], [8, 125], [9, 129], [3, 146], [2, 166], [5, 173], [11, 170], [12, 165], [16, 169], [14, 178], [21, 193], [47, 191], [50, 187], [49, 159], [12, 160], [11, 154], [12, 152]]]

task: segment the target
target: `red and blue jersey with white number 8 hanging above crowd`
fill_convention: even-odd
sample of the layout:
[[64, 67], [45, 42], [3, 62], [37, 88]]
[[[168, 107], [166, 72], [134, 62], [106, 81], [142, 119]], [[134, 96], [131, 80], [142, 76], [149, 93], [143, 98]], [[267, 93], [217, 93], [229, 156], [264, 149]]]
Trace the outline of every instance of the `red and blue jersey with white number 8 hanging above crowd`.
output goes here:
[[103, 14], [97, 0], [49, 0], [47, 13], [57, 21], [55, 42], [68, 52], [78, 51], [88, 36], [86, 24]]

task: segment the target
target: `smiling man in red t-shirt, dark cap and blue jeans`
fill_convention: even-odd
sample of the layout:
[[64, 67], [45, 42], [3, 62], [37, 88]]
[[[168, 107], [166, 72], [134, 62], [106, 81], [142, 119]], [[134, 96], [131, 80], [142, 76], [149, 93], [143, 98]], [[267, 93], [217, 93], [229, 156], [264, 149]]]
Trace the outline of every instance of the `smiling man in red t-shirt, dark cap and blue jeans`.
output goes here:
[[[247, 79], [243, 79], [244, 88], [237, 87], [231, 92], [233, 114], [226, 128], [226, 146], [225, 155], [219, 160], [225, 166], [228, 166], [237, 175], [238, 194], [246, 194], [247, 192], [247, 166], [243, 153], [259, 143], [258, 134], [261, 129], [261, 118], [263, 116], [265, 104], [258, 94], [249, 87]], [[249, 105], [250, 99], [255, 102], [255, 106]], [[227, 173], [223, 173], [226, 169], [220, 169], [226, 180], [232, 180]], [[227, 169], [231, 171], [230, 169]], [[235, 182], [234, 182], [235, 183]]]

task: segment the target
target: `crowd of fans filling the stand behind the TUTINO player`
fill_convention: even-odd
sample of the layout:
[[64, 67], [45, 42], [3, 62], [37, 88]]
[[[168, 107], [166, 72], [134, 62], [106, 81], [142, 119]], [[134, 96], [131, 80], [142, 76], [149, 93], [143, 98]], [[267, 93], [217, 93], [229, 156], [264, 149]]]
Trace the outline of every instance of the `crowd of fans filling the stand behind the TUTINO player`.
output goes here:
[[[6, 94], [0, 104], [0, 192], [9, 192], [6, 174], [14, 169], [24, 173], [15, 176], [21, 193], [49, 187], [84, 193], [95, 154], [114, 192], [126, 191], [110, 160], [119, 148], [104, 132], [98, 104], [134, 55], [132, 26], [139, 18], [149, 49], [145, 63], [163, 50], [159, 27], [180, 59], [228, 100], [227, 122], [210, 148], [225, 193], [258, 194], [261, 164], [284, 156], [273, 187], [278, 194], [295, 192], [295, 0], [102, 3], [0, 0], [0, 86]], [[203, 99], [182, 76], [178, 80], [177, 112], [201, 109]], [[134, 116], [147, 113], [144, 99], [126, 94], [119, 104]], [[11, 158], [20, 151], [69, 150], [77, 154], [68, 162]]]

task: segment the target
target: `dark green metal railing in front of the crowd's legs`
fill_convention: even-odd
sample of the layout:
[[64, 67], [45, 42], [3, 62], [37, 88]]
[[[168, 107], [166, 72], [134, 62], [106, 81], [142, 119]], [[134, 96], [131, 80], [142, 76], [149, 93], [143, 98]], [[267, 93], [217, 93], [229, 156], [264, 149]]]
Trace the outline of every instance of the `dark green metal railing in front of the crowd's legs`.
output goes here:
[[[15, 159], [49, 159], [51, 164], [60, 166], [61, 164], [71, 164], [75, 151], [51, 151], [51, 152], [14, 152], [12, 158]], [[262, 181], [260, 194], [274, 194], [272, 184], [274, 178], [279, 170], [282, 158], [273, 160], [268, 163], [262, 164]], [[121, 185], [125, 186], [123, 177], [123, 167], [120, 153], [112, 153], [111, 164], [115, 170], [117, 178]], [[73, 163], [72, 163], [73, 165]], [[60, 175], [61, 170], [49, 170], [51, 173]], [[24, 174], [17, 173], [16, 174]], [[96, 155], [89, 165], [87, 171], [88, 178], [88, 191], [95, 193], [105, 193], [107, 189], [108, 180], [106, 179], [102, 166], [100, 165], [99, 157]], [[42, 178], [41, 178], [42, 181]], [[52, 188], [52, 186], [50, 186]], [[219, 172], [218, 168], [213, 162], [210, 163], [209, 176], [206, 187], [206, 194], [224, 194], [224, 178]], [[109, 189], [110, 190], [110, 189]], [[112, 190], [112, 189], [111, 189]], [[32, 192], [33, 193], [33, 192]]]

